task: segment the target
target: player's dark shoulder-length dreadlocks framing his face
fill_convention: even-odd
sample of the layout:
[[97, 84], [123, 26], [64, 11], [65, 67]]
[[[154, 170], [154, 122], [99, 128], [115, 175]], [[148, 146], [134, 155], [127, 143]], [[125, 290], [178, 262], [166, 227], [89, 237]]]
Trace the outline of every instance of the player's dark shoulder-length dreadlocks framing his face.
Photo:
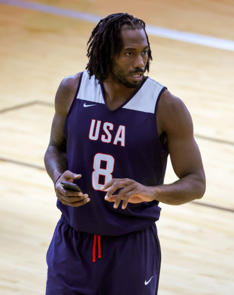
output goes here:
[[[143, 29], [145, 31], [145, 22], [127, 13], [110, 14], [101, 19], [93, 29], [87, 43], [89, 62], [87, 63], [86, 70], [89, 71], [89, 79], [94, 75], [95, 79], [102, 83], [107, 78], [112, 70], [114, 55], [120, 54], [121, 51], [120, 33], [123, 26], [130, 30]], [[152, 56], [146, 32], [145, 35], [149, 45], [145, 70], [149, 72]]]

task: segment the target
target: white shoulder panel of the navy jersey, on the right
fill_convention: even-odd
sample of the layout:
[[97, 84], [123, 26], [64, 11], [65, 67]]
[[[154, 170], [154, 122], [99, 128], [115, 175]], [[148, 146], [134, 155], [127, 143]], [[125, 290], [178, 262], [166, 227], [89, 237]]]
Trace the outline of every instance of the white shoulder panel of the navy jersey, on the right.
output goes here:
[[163, 87], [163, 85], [148, 77], [140, 90], [123, 108], [154, 113], [156, 101]]

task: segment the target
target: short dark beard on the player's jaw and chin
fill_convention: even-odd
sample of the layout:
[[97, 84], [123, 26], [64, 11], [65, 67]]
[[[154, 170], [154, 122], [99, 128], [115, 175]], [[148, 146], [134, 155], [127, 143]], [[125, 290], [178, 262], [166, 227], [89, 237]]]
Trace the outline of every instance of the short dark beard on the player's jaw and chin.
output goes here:
[[[142, 72], [142, 74], [144, 74], [144, 72], [140, 68], [137, 69], [137, 71], [135, 71], [135, 73], [139, 73], [139, 72]], [[134, 72], [130, 74], [134, 74]], [[127, 88], [137, 88], [141, 82], [141, 81], [129, 82], [127, 80], [127, 75], [124, 73], [124, 70], [116, 62], [113, 62], [112, 75], [115, 81], [124, 85]]]

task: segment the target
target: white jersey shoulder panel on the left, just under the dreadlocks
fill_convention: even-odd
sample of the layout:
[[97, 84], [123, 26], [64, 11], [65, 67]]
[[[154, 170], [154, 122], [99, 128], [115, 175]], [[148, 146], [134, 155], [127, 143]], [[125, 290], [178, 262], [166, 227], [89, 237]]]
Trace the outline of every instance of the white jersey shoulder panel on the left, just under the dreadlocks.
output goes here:
[[89, 80], [89, 73], [87, 71], [83, 73], [77, 99], [104, 104], [100, 84], [98, 84], [94, 76], [91, 76]]

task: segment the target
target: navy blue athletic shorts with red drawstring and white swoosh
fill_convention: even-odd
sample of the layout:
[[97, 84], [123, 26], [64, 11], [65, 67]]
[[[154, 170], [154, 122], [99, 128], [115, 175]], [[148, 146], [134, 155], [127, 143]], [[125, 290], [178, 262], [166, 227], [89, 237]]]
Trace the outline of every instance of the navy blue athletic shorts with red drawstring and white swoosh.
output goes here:
[[155, 224], [97, 236], [75, 230], [62, 216], [47, 252], [46, 295], [155, 295], [160, 264]]

